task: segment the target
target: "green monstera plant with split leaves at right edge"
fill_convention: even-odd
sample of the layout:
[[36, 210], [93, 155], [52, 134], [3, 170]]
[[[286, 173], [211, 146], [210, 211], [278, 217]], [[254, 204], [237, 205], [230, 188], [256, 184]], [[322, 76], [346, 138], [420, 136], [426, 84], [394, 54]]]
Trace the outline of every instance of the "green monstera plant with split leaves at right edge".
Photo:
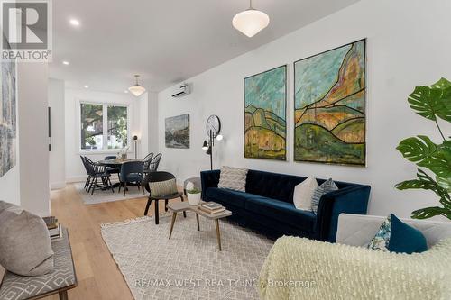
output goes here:
[[409, 96], [410, 108], [417, 114], [433, 121], [443, 141], [435, 143], [425, 135], [418, 135], [400, 142], [396, 148], [405, 159], [417, 164], [417, 178], [399, 183], [404, 189], [426, 189], [433, 191], [440, 205], [412, 212], [412, 218], [428, 219], [442, 215], [451, 220], [451, 140], [442, 131], [437, 119], [451, 123], [451, 82], [441, 78], [432, 86], [417, 86]]

